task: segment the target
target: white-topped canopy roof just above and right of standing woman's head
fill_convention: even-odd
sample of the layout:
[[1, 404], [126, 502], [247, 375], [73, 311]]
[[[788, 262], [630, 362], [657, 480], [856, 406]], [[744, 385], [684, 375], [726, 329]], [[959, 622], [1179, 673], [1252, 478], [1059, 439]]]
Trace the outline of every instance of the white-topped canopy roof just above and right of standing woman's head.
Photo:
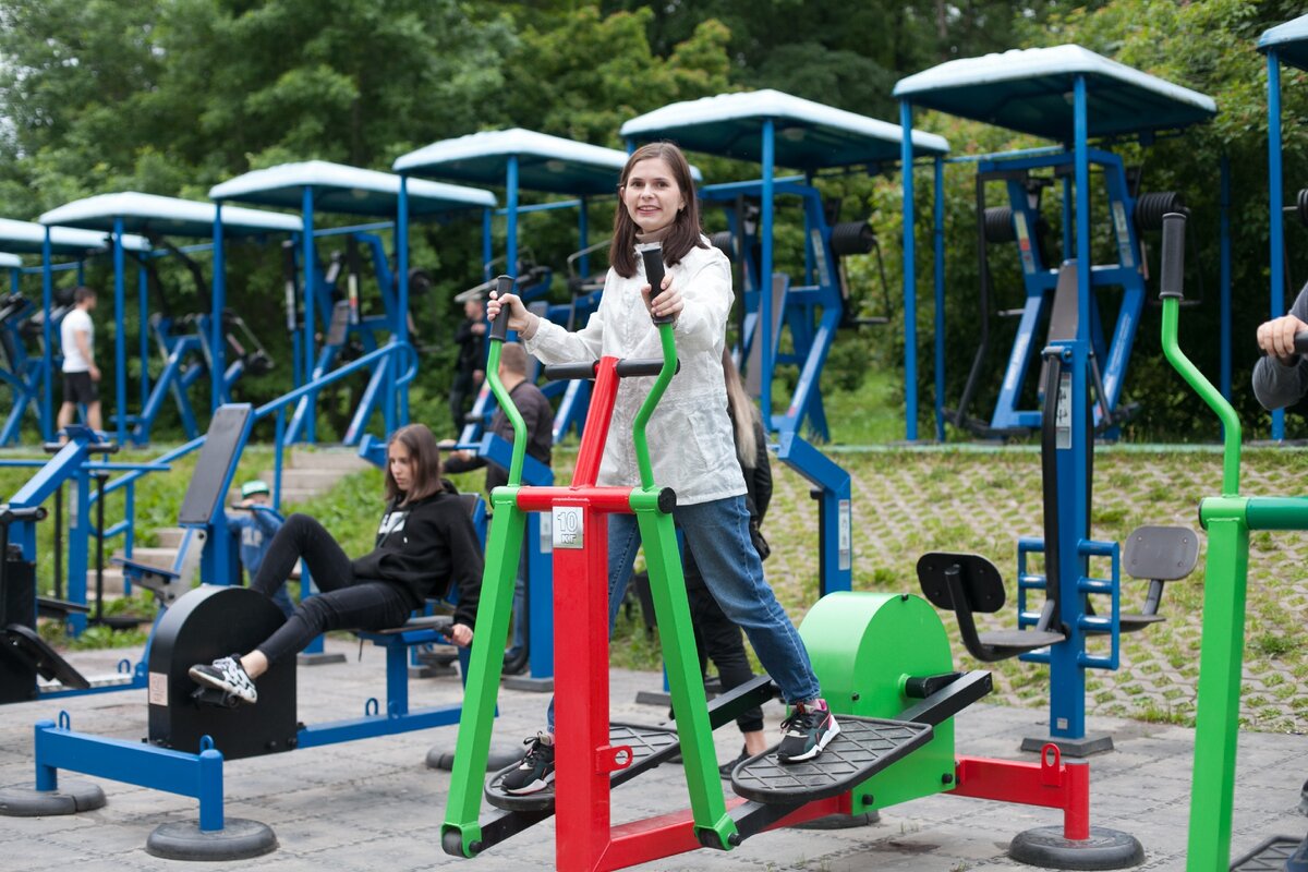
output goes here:
[[[621, 135], [636, 140], [668, 137], [683, 148], [759, 159], [765, 119], [777, 124], [777, 163], [782, 166], [844, 166], [897, 159], [904, 128], [857, 112], [765, 89], [718, 94], [671, 103], [623, 124]], [[804, 143], [812, 137], [812, 143]], [[944, 154], [943, 136], [913, 131], [918, 153]]]

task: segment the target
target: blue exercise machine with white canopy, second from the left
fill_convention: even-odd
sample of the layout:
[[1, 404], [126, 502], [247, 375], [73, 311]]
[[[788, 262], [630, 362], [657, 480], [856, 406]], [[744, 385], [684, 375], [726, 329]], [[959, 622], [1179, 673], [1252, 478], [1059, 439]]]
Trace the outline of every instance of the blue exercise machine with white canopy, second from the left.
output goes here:
[[[196, 203], [194, 200], [179, 200], [177, 197], [161, 197], [150, 193], [137, 193], [137, 192], [122, 192], [122, 193], [102, 193], [98, 196], [85, 197], [82, 200], [75, 200], [67, 203], [61, 207], [51, 209], [50, 212], [41, 216], [39, 221], [44, 225], [65, 225], [72, 227], [82, 227], [89, 230], [99, 230], [111, 234], [111, 239], [115, 241], [114, 244], [114, 421], [116, 430], [116, 441], [124, 443], [128, 438], [137, 444], [143, 444], [149, 441], [149, 430], [154, 422], [154, 416], [162, 408], [164, 399], [167, 395], [173, 395], [182, 409], [183, 425], [188, 426], [187, 435], [194, 438], [198, 431], [194, 417], [188, 420], [187, 411], [190, 409], [188, 401], [184, 397], [184, 387], [199, 379], [199, 374], [191, 370], [187, 375], [188, 363], [184, 360], [186, 352], [199, 350], [203, 356], [204, 369], [213, 374], [215, 377], [209, 379], [211, 390], [211, 411], [216, 409], [218, 403], [224, 400], [230, 390], [230, 382], [241, 374], [241, 369], [229, 370], [225, 363], [225, 348], [228, 345], [228, 336], [225, 333], [225, 327], [232, 324], [232, 318], [225, 315], [225, 301], [220, 293], [220, 284], [213, 282], [213, 307], [209, 312], [208, 320], [200, 320], [198, 323], [199, 329], [196, 332], [195, 344], [174, 341], [170, 331], [165, 331], [162, 343], [164, 350], [166, 352], [166, 366], [165, 374], [153, 388], [148, 387], [148, 382], [141, 383], [141, 399], [140, 399], [140, 412], [137, 414], [131, 414], [128, 412], [127, 401], [127, 341], [124, 329], [124, 315], [126, 315], [126, 293], [127, 293], [127, 263], [126, 252], [123, 246], [116, 244], [116, 241], [122, 239], [128, 231], [139, 233], [146, 238], [166, 238], [166, 237], [182, 237], [182, 238], [208, 238], [217, 220], [218, 210], [211, 203]], [[263, 237], [267, 234], [283, 234], [283, 233], [296, 233], [300, 230], [300, 221], [292, 216], [275, 214], [271, 212], [256, 212], [254, 209], [233, 209], [222, 216], [222, 224], [226, 233], [232, 235], [247, 235], [247, 237]], [[156, 256], [164, 256], [165, 254], [191, 254], [192, 251], [199, 251], [207, 246], [201, 244], [187, 251], [178, 250], [175, 247], [167, 246], [161, 251], [150, 251], [144, 255], [144, 259], [149, 260]], [[221, 247], [213, 247], [215, 269], [213, 275], [217, 277], [224, 272], [224, 264], [221, 263], [222, 251]], [[205, 286], [203, 276], [195, 264], [190, 264], [192, 276], [195, 276], [198, 282], [198, 290], [204, 294]], [[148, 339], [148, 323], [149, 318], [146, 315], [148, 310], [148, 281], [146, 272], [143, 269], [140, 288], [139, 288], [139, 324], [140, 324], [140, 354], [141, 361], [149, 360], [149, 339]], [[178, 352], [179, 357], [173, 361], [173, 353]], [[143, 366], [143, 373], [144, 373]], [[218, 375], [221, 374], [221, 375]], [[144, 377], [143, 377], [144, 379]]]

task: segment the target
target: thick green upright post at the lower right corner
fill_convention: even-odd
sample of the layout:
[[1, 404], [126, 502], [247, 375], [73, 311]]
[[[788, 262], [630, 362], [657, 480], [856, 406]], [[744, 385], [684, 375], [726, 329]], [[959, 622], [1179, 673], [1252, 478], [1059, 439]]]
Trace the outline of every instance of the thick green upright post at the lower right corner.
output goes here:
[[1240, 675], [1244, 659], [1249, 528], [1241, 498], [1205, 499], [1209, 531], [1203, 588], [1203, 650], [1199, 654], [1194, 777], [1190, 788], [1188, 872], [1214, 872], [1231, 863], [1231, 807], [1240, 736]]

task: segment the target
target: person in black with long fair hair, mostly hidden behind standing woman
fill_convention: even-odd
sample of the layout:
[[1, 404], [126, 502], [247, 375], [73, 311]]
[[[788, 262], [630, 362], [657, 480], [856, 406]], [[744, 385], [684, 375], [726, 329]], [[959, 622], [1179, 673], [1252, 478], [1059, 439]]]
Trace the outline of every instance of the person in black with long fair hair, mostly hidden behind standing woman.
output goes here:
[[[736, 459], [744, 473], [744, 505], [749, 512], [749, 539], [760, 560], [766, 560], [772, 549], [763, 537], [760, 526], [772, 502], [772, 464], [768, 460], [768, 435], [763, 429], [763, 416], [740, 383], [740, 373], [731, 362], [731, 354], [722, 352], [722, 374], [727, 388], [727, 417], [735, 435]], [[685, 592], [691, 601], [691, 621], [695, 626], [695, 645], [700, 655], [700, 672], [708, 660], [713, 660], [726, 693], [753, 679], [749, 658], [744, 651], [744, 637], [740, 628], [731, 622], [718, 601], [713, 599], [704, 575], [695, 562], [689, 545], [683, 552], [681, 563], [685, 573]], [[755, 706], [736, 718], [736, 727], [744, 736], [740, 754], [718, 770], [723, 778], [731, 777], [736, 763], [768, 749], [768, 739], [763, 732], [763, 709]]]

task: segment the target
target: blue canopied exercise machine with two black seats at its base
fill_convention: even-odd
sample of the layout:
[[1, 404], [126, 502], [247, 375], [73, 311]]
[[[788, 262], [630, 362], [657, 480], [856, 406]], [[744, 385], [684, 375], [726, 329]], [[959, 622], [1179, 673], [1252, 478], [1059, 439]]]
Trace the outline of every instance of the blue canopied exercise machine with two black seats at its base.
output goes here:
[[[1079, 46], [1029, 48], [948, 61], [901, 80], [895, 86], [895, 95], [901, 101], [904, 123], [912, 122], [914, 107], [926, 107], [1061, 141], [1059, 146], [986, 158], [994, 162], [995, 169], [1007, 167], [1014, 173], [1012, 179], [1005, 179], [1015, 184], [1022, 195], [1012, 200], [1014, 216], [1025, 208], [1025, 203], [1019, 201], [1025, 196], [1025, 173], [1037, 166], [1067, 167], [1059, 174], [1066, 209], [1066, 259], [1057, 269], [1044, 267], [1044, 261], [1035, 256], [1031, 260], [1032, 268], [1042, 271], [1042, 284], [1050, 292], [1046, 303], [1050, 332], [1048, 343], [1041, 346], [1044, 407], [1036, 420], [1023, 418], [1027, 426], [1039, 426], [1041, 433], [1044, 539], [1024, 537], [1018, 544], [1016, 629], [981, 634], [973, 654], [988, 652], [991, 659], [1020, 655], [1025, 662], [1049, 665], [1049, 735], [1028, 737], [1023, 748], [1039, 750], [1044, 744], [1053, 743], [1063, 753], [1074, 756], [1108, 750], [1112, 748], [1110, 736], [1086, 733], [1086, 671], [1116, 669], [1121, 633], [1143, 629], [1158, 618], [1135, 618], [1122, 613], [1121, 546], [1118, 543], [1097, 541], [1091, 535], [1092, 396], [1100, 407], [1108, 405], [1109, 396], [1117, 396], [1116, 390], [1109, 395], [1107, 379], [1103, 388], [1095, 383], [1095, 360], [1110, 361], [1105, 373], [1124, 371], [1138, 315], [1131, 307], [1138, 307], [1141, 302], [1127, 295], [1122, 310], [1130, 316], [1130, 324], [1124, 328], [1120, 323], [1120, 336], [1105, 349], [1103, 336], [1096, 331], [1093, 289], [1117, 284], [1142, 293], [1143, 276], [1139, 271], [1143, 265], [1138, 259], [1138, 239], [1130, 220], [1134, 199], [1125, 186], [1121, 162], [1103, 149], [1092, 149], [1090, 140], [1129, 136], [1151, 140], [1207, 120], [1216, 107], [1203, 94], [1110, 61]], [[1117, 261], [1103, 268], [1092, 265], [1090, 255], [1092, 166], [1103, 170], [1103, 187], [1113, 204]], [[904, 176], [904, 188], [906, 205], [913, 201], [909, 175]], [[984, 216], [978, 214], [978, 220]], [[1025, 220], [1028, 233], [1035, 230], [1032, 220]], [[906, 259], [910, 258], [910, 227], [912, 221], [905, 221]], [[1020, 238], [1020, 230], [1018, 233]], [[1033, 255], [1035, 244], [1024, 247], [1025, 251]], [[1032, 306], [1036, 306], [1035, 301]], [[938, 345], [942, 341], [943, 332], [938, 332]], [[1029, 336], [1027, 341], [1032, 341]], [[1122, 356], [1121, 361], [1116, 360], [1117, 354]], [[1189, 531], [1137, 533], [1143, 545], [1139, 553], [1144, 553], [1180, 548], [1180, 540]], [[1193, 540], [1193, 533], [1189, 536]], [[1135, 539], [1133, 533], [1133, 543]], [[1131, 567], [1131, 554], [1137, 552], [1131, 544], [1127, 545], [1127, 569]], [[1044, 554], [1042, 574], [1028, 566], [1028, 558], [1037, 553]], [[948, 588], [950, 578], [963, 578], [965, 591], [968, 578], [997, 577], [993, 566], [972, 566], [974, 556], [929, 557], [933, 560], [923, 558], [926, 573], [938, 577], [940, 590]], [[1109, 561], [1109, 571], [1092, 573], [1091, 558]], [[1151, 575], [1151, 588], [1156, 587], [1160, 597], [1162, 584], [1175, 578]], [[1156, 586], [1152, 584], [1155, 580]], [[954, 583], [957, 587], [956, 580]], [[1002, 586], [999, 590], [1002, 594]], [[1042, 603], [1037, 604], [1041, 594]], [[1152, 607], [1147, 604], [1142, 616], [1156, 616], [1158, 597], [1151, 599]], [[938, 604], [946, 608], [952, 604], [960, 626], [969, 624], [972, 612], [998, 608], [998, 604], [982, 607], [961, 595], [942, 595]], [[1087, 646], [1096, 638], [1107, 639], [1107, 654], [1097, 645]]]

